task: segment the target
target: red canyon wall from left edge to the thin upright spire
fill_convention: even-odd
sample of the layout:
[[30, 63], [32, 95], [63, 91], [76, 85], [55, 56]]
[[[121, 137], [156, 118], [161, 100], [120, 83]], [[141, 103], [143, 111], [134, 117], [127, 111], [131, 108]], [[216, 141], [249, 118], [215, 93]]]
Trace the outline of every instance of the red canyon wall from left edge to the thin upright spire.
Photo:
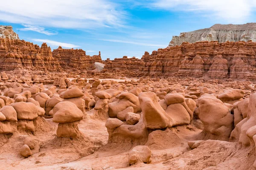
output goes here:
[[39, 47], [24, 40], [0, 38], [0, 71], [92, 70], [95, 69], [94, 62], [102, 62], [100, 52], [99, 55], [90, 57], [81, 49], [59, 47], [52, 51], [46, 43]]

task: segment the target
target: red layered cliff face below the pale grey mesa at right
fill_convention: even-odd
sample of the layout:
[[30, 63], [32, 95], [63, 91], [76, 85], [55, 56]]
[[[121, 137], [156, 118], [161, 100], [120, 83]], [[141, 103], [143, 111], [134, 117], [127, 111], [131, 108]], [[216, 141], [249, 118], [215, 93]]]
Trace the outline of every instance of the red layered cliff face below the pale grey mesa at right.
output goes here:
[[[139, 75], [255, 79], [256, 43], [204, 41], [160, 48], [157, 55], [145, 55]], [[155, 53], [155, 52], [154, 52]], [[149, 59], [148, 59], [149, 58]]]

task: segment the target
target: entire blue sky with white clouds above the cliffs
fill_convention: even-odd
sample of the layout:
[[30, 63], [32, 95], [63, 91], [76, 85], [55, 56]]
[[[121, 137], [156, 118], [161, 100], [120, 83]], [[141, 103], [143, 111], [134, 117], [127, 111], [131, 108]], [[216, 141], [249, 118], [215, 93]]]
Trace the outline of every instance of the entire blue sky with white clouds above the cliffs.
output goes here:
[[173, 35], [215, 23], [256, 22], [256, 0], [5, 0], [0, 25], [20, 39], [81, 48], [102, 59], [140, 58], [166, 48]]

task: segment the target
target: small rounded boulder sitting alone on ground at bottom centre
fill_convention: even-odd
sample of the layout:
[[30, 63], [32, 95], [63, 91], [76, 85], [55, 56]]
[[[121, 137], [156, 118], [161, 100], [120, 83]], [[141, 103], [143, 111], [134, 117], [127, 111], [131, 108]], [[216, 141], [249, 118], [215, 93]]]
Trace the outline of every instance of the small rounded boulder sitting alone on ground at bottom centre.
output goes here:
[[148, 146], [136, 146], [129, 153], [129, 164], [150, 163], [151, 150]]

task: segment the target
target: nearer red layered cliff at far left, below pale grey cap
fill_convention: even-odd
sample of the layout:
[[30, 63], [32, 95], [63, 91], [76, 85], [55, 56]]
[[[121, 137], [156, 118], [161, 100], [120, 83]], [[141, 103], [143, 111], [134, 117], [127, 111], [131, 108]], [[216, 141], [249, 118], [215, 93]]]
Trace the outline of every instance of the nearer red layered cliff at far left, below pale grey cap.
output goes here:
[[62, 71], [58, 59], [52, 57], [51, 48], [43, 43], [41, 48], [24, 40], [0, 38], [0, 69], [15, 68], [42, 71]]

